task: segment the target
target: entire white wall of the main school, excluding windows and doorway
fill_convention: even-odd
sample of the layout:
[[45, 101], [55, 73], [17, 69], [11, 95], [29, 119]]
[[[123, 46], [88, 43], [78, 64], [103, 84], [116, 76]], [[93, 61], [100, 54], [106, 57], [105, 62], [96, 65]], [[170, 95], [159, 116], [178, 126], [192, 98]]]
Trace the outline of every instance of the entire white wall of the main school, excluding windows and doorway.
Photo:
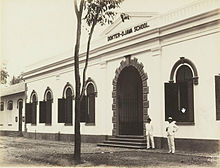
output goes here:
[[[196, 21], [197, 22], [193, 23], [190, 21], [189, 24], [193, 24], [191, 26], [200, 24], [199, 19]], [[185, 26], [187, 27], [189, 25]], [[172, 25], [170, 25], [170, 27], [172, 27]], [[183, 27], [176, 26], [175, 30], [168, 29], [167, 32], [180, 31], [180, 29], [183, 29]], [[118, 44], [118, 46], [112, 45], [112, 48], [103, 49], [103, 52], [99, 52], [98, 49], [97, 51], [94, 50], [93, 53], [91, 52], [92, 56], [97, 57], [89, 61], [87, 78], [91, 77], [95, 81], [98, 90], [95, 113], [96, 123], [95, 126], [86, 126], [82, 123], [82, 134], [112, 135], [112, 80], [115, 77], [115, 70], [120, 67], [120, 62], [124, 60], [124, 56], [131, 54], [132, 58], [137, 58], [139, 63], [143, 63], [144, 72], [148, 75], [148, 113], [154, 124], [155, 136], [166, 136], [164, 83], [169, 81], [171, 69], [174, 64], [180, 57], [185, 57], [195, 64], [199, 75], [199, 84], [194, 86], [195, 125], [180, 126], [177, 137], [220, 139], [219, 131], [217, 131], [220, 129], [220, 122], [215, 120], [214, 90], [214, 75], [220, 73], [220, 49], [216, 46], [220, 42], [220, 34], [217, 33], [216, 27], [212, 27], [212, 25], [210, 25], [210, 27], [202, 27], [201, 29], [194, 28], [192, 31], [186, 30], [183, 32], [181, 30], [181, 32], [170, 35], [170, 37], [163, 37], [163, 39], [158, 37], [161, 35], [159, 31], [160, 30], [158, 30], [158, 32], [155, 31], [156, 33], [153, 35], [150, 34], [150, 32], [149, 34], [145, 34], [146, 39], [150, 38], [152, 35], [152, 37], [156, 39], [154, 41], [146, 42], [146, 39], [144, 39], [145, 36], [139, 36], [138, 39], [143, 38], [143, 41], [128, 46], [128, 44], [134, 42], [129, 41], [128, 39], [132, 38], [129, 37], [127, 41], [124, 40], [119, 43], [116, 41], [115, 44]], [[162, 32], [162, 34], [163, 33], [164, 32]], [[134, 38], [134, 40], [137, 39]], [[116, 48], [115, 50], [114, 47]], [[157, 50], [156, 52], [154, 52], [155, 49]], [[104, 53], [105, 51], [106, 53]], [[99, 53], [104, 54], [102, 55]], [[82, 71], [83, 66], [81, 65], [80, 67]], [[69, 67], [66, 69], [59, 69], [58, 71], [54, 70], [54, 72], [48, 72], [47, 74], [33, 77], [26, 81], [28, 85], [28, 99], [34, 89], [38, 94], [38, 100], [43, 100], [43, 95], [47, 86], [52, 89], [54, 95], [52, 126], [39, 124], [38, 106], [37, 126], [28, 125], [28, 131], [34, 132], [36, 130], [37, 132], [48, 133], [57, 133], [60, 131], [61, 133], [73, 133], [74, 126], [64, 126], [64, 124], [57, 123], [57, 98], [62, 97], [63, 88], [66, 82], [72, 84], [75, 92], [73, 75], [73, 67]]]

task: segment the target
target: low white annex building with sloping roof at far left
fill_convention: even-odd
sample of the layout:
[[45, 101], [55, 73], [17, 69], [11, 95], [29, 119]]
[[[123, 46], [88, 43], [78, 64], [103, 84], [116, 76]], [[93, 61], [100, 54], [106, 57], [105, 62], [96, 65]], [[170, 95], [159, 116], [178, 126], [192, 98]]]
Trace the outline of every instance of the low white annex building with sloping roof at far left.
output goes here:
[[25, 131], [25, 91], [25, 83], [1, 87], [1, 134], [21, 135]]

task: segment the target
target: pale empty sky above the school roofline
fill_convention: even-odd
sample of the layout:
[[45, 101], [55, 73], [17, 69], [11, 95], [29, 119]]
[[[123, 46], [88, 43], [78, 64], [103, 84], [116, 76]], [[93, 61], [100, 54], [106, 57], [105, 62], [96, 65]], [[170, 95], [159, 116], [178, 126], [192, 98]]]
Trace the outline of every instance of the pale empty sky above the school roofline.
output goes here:
[[[195, 1], [125, 0], [120, 11], [166, 13]], [[10, 77], [35, 62], [72, 55], [75, 23], [73, 0], [0, 0], [0, 54]]]

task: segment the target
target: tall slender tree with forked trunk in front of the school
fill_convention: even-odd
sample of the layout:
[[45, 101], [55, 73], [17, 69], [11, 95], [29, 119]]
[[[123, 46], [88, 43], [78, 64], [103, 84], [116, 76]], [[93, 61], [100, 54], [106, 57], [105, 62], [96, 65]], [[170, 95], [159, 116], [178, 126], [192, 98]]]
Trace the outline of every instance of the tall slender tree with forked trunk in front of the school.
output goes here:
[[[74, 0], [74, 8], [77, 17], [77, 34], [74, 51], [74, 72], [75, 72], [75, 146], [74, 156], [76, 163], [81, 162], [81, 134], [80, 134], [80, 102], [85, 91], [85, 78], [88, 66], [89, 51], [92, 35], [97, 24], [105, 25], [113, 22], [116, 12], [115, 8], [120, 7], [123, 0], [81, 0], [79, 6], [77, 0]], [[86, 12], [85, 17], [82, 18], [83, 11]], [[86, 61], [83, 69], [82, 86], [79, 73], [79, 48], [82, 30], [82, 19], [85, 19], [89, 26], [89, 35], [87, 42]], [[80, 91], [81, 90], [81, 91]]]

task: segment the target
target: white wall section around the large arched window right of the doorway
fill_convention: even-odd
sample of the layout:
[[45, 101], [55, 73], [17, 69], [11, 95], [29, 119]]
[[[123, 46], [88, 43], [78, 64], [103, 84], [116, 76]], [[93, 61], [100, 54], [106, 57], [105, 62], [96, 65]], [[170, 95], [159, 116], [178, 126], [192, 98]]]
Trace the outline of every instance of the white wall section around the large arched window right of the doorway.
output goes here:
[[220, 129], [220, 121], [216, 121], [215, 118], [214, 81], [214, 76], [220, 72], [220, 49], [217, 47], [219, 42], [220, 33], [215, 33], [162, 48], [163, 82], [169, 81], [171, 68], [180, 57], [190, 59], [198, 70], [199, 84], [194, 85], [195, 125], [180, 126], [177, 137], [202, 139], [220, 138], [218, 131]]

